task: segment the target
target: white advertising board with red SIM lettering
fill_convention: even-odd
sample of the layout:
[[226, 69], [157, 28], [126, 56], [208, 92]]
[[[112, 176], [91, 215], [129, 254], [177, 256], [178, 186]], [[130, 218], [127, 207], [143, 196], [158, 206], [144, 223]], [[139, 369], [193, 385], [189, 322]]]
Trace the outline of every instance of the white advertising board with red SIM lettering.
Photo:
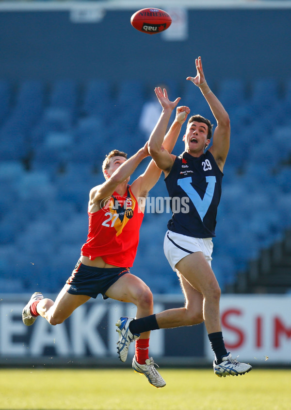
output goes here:
[[[223, 295], [220, 311], [226, 350], [233, 358], [250, 364], [291, 362], [290, 295]], [[207, 355], [213, 359], [210, 347]]]

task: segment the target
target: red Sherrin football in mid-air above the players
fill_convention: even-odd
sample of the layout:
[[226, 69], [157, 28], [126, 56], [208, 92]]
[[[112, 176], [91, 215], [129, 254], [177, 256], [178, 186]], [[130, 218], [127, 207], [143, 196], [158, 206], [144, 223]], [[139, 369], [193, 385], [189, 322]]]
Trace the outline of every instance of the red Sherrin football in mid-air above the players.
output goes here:
[[138, 10], [130, 18], [131, 25], [146, 34], [157, 34], [167, 30], [171, 23], [171, 16], [161, 9], [147, 8]]

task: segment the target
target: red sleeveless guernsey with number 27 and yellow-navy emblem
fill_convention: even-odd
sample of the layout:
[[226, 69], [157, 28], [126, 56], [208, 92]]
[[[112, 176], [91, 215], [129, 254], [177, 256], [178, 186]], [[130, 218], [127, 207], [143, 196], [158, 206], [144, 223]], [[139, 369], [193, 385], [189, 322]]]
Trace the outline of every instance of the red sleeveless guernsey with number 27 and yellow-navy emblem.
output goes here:
[[87, 242], [81, 248], [81, 255], [91, 260], [101, 256], [110, 265], [130, 268], [144, 218], [130, 186], [125, 195], [113, 192], [105, 206], [97, 212], [88, 212], [88, 215], [89, 233]]

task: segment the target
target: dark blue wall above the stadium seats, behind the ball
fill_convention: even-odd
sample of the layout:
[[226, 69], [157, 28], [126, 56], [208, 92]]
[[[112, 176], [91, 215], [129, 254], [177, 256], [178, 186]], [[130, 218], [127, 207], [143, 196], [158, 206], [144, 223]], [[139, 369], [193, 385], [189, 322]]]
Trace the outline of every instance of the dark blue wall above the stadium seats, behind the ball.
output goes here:
[[291, 1], [175, 3], [156, 1], [173, 23], [148, 35], [130, 25], [147, 1], [0, 2], [0, 78], [184, 83], [198, 55], [211, 83], [291, 77]]

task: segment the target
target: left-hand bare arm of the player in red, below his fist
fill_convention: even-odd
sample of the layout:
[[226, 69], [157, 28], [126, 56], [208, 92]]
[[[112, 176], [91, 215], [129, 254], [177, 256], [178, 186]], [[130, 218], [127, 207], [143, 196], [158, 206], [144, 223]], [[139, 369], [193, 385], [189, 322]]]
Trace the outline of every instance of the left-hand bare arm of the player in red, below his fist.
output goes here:
[[[94, 206], [93, 212], [99, 209], [100, 201], [111, 196], [114, 190], [124, 184], [124, 190], [127, 187], [128, 179], [140, 162], [148, 156], [147, 142], [136, 154], [132, 155], [128, 160], [124, 158], [124, 162], [118, 166], [113, 174], [101, 185], [92, 188], [89, 195], [89, 208]], [[92, 212], [92, 210], [91, 210]]]

